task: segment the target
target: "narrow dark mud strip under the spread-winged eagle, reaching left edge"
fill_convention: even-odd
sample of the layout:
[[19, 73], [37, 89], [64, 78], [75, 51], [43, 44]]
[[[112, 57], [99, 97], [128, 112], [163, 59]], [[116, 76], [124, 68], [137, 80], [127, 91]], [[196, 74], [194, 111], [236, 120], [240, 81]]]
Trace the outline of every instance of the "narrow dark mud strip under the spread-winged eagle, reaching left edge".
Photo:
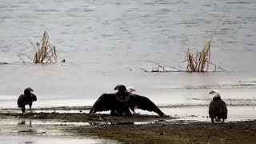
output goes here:
[[86, 114], [86, 113], [0, 113], [1, 118], [30, 118], [30, 119], [57, 119], [63, 122], [146, 122], [146, 121], [164, 121], [174, 119], [167, 116], [162, 118], [155, 115], [133, 114], [132, 116], [111, 116], [110, 114]]

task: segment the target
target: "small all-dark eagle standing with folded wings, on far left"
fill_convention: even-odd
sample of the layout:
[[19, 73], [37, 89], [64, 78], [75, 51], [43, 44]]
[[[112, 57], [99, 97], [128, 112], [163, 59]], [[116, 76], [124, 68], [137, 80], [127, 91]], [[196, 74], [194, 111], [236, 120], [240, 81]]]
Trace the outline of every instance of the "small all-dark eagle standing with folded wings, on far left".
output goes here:
[[22, 113], [25, 113], [26, 110], [26, 105], [30, 106], [30, 110], [32, 107], [32, 103], [34, 101], [37, 101], [37, 96], [33, 93], [31, 93], [31, 91], [33, 91], [30, 87], [26, 88], [26, 90], [24, 90], [24, 94], [20, 95], [18, 97], [18, 107], [22, 108]]

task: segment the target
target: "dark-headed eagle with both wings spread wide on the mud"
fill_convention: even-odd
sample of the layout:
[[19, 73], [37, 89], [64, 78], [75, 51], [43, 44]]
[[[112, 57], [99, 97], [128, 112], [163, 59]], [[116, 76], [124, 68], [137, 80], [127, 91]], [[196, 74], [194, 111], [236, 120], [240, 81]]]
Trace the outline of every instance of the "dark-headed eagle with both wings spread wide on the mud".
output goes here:
[[[94, 114], [97, 111], [110, 110], [112, 115], [131, 115], [130, 110], [134, 111], [134, 108], [154, 111], [161, 117], [166, 117], [166, 114], [150, 101], [149, 98], [140, 96], [138, 94], [132, 94], [133, 88], [129, 88], [128, 92], [126, 86], [118, 85], [114, 88], [118, 90], [114, 94], [102, 94], [100, 98], [94, 103], [94, 106], [90, 110], [90, 114]], [[130, 109], [129, 109], [130, 108]]]

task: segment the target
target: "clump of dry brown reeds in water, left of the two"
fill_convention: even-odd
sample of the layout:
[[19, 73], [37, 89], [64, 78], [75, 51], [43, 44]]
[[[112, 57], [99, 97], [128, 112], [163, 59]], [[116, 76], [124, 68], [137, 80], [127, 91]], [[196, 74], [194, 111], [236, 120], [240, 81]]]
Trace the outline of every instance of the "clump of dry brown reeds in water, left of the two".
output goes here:
[[[30, 41], [31, 42], [31, 41]], [[52, 46], [49, 42], [49, 36], [44, 32], [42, 36], [42, 43], [39, 42], [36, 43], [36, 46], [34, 47], [34, 63], [55, 63], [57, 62], [57, 54], [55, 46]]]

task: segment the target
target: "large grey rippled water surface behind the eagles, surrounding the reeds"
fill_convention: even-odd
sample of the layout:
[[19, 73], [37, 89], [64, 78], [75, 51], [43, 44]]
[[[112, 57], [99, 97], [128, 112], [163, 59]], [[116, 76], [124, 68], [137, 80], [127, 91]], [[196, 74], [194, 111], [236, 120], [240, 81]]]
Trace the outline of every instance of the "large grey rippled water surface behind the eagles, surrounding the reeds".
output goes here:
[[[160, 106], [208, 105], [219, 90], [229, 105], [254, 106], [256, 58], [254, 0], [89, 0], [0, 2], [0, 103], [16, 108], [31, 86], [34, 107], [92, 106], [122, 83]], [[218, 19], [221, 21], [218, 23]], [[202, 48], [218, 25], [212, 61], [228, 72], [145, 73], [159, 62], [179, 67], [182, 41]], [[43, 31], [56, 46], [58, 61], [31, 63]], [[21, 55], [26, 63], [22, 63]], [[182, 66], [185, 68], [186, 66]]]

